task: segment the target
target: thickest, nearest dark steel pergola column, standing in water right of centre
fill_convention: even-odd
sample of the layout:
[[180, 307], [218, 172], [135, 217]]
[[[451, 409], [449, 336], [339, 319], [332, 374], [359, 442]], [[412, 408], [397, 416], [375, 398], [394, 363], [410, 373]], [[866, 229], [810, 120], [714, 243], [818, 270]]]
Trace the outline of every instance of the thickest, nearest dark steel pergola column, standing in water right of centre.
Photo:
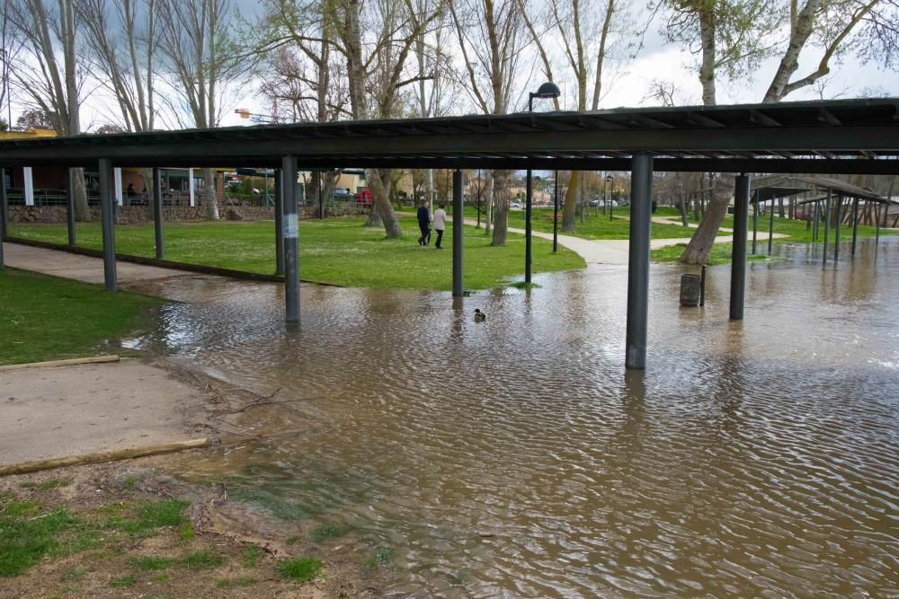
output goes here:
[[653, 157], [645, 152], [631, 158], [630, 242], [628, 255], [628, 337], [625, 366], [646, 367], [646, 328], [649, 316], [649, 239], [652, 223]]

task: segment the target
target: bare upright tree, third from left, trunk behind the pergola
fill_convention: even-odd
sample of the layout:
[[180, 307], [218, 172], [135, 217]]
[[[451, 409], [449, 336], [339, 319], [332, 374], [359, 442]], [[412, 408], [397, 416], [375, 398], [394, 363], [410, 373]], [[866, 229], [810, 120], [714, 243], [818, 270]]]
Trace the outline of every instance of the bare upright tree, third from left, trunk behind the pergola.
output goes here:
[[[170, 102], [176, 118], [187, 116], [192, 127], [218, 127], [222, 110], [252, 66], [251, 55], [236, 48], [229, 0], [157, 0], [159, 50], [163, 72], [180, 105]], [[185, 124], [182, 121], [182, 124]], [[218, 219], [215, 173], [203, 169], [206, 216]]]

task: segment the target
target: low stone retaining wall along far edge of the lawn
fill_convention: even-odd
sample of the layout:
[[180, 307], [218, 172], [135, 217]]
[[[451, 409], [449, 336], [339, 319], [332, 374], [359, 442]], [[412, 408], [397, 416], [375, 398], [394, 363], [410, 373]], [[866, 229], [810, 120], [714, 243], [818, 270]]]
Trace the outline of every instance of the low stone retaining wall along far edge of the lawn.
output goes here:
[[[100, 207], [89, 207], [90, 220], [100, 220]], [[273, 207], [228, 205], [227, 209], [218, 208], [222, 219], [229, 220], [273, 220]], [[300, 218], [315, 218], [318, 209], [314, 206], [299, 207]], [[368, 208], [328, 208], [327, 216], [355, 216], [369, 214]], [[199, 207], [164, 206], [163, 219], [168, 222], [200, 221], [204, 215]], [[150, 208], [147, 206], [120, 206], [116, 209], [116, 222], [119, 225], [139, 225], [151, 220]], [[10, 206], [9, 221], [11, 223], [55, 223], [67, 221], [65, 206]]]

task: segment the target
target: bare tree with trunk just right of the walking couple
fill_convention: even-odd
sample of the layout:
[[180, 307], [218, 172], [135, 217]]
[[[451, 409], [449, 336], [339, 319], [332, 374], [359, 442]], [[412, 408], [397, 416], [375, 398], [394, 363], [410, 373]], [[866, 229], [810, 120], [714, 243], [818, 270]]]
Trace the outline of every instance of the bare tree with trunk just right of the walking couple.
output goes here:
[[[457, 0], [449, 4], [458, 37], [467, 92], [477, 110], [505, 114], [517, 89], [515, 73], [526, 43], [519, 0]], [[504, 245], [508, 233], [509, 186], [512, 173], [494, 171], [487, 195], [487, 214], [494, 212], [494, 245]], [[493, 205], [493, 206], [492, 206]], [[495, 211], [492, 208], [495, 207]], [[489, 232], [490, 221], [487, 221]]]

